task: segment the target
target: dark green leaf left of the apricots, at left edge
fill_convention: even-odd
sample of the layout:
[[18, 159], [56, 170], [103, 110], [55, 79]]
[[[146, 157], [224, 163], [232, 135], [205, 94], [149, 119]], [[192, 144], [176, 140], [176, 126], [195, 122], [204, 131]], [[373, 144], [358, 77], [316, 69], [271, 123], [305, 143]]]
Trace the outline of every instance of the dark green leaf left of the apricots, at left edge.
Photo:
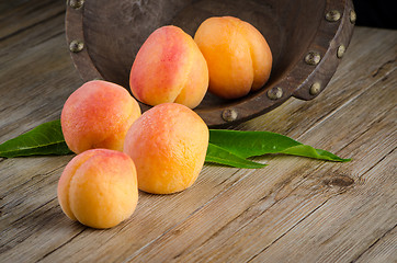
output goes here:
[[38, 125], [34, 129], [0, 145], [0, 157], [72, 153], [65, 142], [60, 121]]

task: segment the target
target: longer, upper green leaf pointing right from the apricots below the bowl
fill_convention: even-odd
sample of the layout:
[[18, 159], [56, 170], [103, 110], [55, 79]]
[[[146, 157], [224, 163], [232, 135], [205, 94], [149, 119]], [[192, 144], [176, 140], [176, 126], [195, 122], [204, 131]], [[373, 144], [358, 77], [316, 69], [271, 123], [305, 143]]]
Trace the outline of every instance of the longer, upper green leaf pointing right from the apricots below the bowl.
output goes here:
[[270, 132], [211, 129], [209, 142], [240, 158], [284, 153], [328, 161], [350, 161], [350, 159], [342, 159], [329, 151], [315, 149], [284, 135]]

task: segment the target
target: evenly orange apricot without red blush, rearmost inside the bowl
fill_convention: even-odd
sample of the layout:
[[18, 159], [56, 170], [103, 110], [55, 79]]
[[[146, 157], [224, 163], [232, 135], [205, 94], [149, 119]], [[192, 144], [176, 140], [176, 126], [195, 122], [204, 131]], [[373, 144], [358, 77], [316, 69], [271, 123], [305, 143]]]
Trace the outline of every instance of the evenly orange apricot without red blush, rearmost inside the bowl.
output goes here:
[[209, 92], [237, 99], [268, 81], [272, 54], [251, 24], [232, 16], [209, 18], [198, 26], [194, 41], [207, 61]]

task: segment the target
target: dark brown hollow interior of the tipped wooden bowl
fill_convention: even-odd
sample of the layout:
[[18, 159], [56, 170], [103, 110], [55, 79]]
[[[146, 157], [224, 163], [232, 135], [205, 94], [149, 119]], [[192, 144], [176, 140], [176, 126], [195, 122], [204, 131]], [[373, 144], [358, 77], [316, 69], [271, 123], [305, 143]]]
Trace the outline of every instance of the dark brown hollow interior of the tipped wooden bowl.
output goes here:
[[[173, 24], [194, 36], [205, 19], [232, 15], [256, 26], [270, 45], [273, 69], [263, 88], [268, 89], [302, 59], [315, 37], [325, 5], [326, 1], [319, 0], [294, 0], [293, 4], [290, 0], [86, 1], [83, 34], [89, 56], [102, 77], [129, 90], [135, 56], [156, 28]], [[230, 106], [239, 100], [224, 101], [207, 93], [197, 110]]]

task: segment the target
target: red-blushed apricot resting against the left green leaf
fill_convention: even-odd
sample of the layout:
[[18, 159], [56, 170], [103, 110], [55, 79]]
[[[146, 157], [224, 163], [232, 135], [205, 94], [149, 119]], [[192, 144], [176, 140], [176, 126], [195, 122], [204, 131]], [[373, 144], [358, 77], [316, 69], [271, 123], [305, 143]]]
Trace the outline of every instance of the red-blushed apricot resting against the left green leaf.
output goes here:
[[126, 89], [94, 80], [68, 98], [60, 121], [65, 141], [73, 152], [94, 148], [122, 151], [125, 135], [139, 116], [140, 107]]

